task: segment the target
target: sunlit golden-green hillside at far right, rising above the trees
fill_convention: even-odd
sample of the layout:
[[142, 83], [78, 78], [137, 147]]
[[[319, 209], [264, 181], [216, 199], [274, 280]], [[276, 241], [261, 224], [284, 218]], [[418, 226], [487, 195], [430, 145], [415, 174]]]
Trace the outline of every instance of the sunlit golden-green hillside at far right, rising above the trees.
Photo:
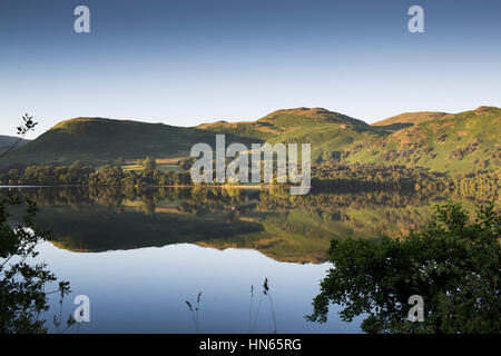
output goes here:
[[445, 115], [367, 141], [348, 157], [352, 162], [396, 164], [443, 172], [499, 170], [501, 109]]

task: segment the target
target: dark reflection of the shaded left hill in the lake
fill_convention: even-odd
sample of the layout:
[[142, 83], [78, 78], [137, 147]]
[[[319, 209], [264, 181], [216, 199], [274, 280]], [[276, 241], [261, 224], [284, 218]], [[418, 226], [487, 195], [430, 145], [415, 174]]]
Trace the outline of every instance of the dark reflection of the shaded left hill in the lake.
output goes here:
[[52, 233], [58, 246], [86, 251], [161, 247], [262, 230], [258, 224], [247, 221], [225, 224], [222, 219], [176, 214], [117, 212], [97, 206], [79, 211], [68, 207], [43, 207], [37, 220]]

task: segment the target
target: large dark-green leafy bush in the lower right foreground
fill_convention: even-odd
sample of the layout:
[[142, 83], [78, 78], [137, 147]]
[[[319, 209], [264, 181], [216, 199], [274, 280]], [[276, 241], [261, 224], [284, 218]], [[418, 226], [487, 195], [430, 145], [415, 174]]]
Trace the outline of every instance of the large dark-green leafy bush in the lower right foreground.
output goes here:
[[[436, 207], [421, 233], [402, 238], [332, 241], [334, 268], [314, 298], [312, 322], [327, 320], [331, 303], [341, 318], [366, 314], [367, 333], [499, 333], [501, 217], [493, 204], [477, 218], [459, 205]], [[424, 299], [424, 322], [407, 318], [409, 297]]]

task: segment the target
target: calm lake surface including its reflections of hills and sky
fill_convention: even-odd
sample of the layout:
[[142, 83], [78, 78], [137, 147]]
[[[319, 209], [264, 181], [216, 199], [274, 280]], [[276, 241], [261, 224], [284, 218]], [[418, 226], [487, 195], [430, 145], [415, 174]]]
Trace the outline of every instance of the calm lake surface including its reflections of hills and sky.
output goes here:
[[[195, 304], [199, 291], [202, 333], [272, 333], [267, 298], [256, 316], [265, 278], [278, 333], [360, 333], [362, 318], [342, 322], [338, 306], [326, 324], [304, 319], [331, 268], [330, 240], [406, 233], [450, 199], [238, 189], [14, 192], [38, 201], [38, 222], [51, 230], [51, 241], [39, 250], [58, 278], [71, 283], [63, 317], [76, 307], [75, 296], [90, 298], [91, 320], [80, 333], [193, 333], [185, 300]], [[473, 209], [473, 202], [463, 204]], [[59, 315], [56, 295], [45, 315], [50, 332], [56, 332], [53, 315]]]

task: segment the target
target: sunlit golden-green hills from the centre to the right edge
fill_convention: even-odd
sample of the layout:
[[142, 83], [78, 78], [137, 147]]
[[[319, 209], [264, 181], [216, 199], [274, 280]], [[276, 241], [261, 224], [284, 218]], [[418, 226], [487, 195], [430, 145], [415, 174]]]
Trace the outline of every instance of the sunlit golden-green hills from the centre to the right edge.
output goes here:
[[446, 113], [405, 112], [367, 125], [322, 108], [277, 110], [257, 121], [202, 125], [227, 132], [276, 142], [311, 142], [312, 159], [403, 165], [439, 172], [466, 174], [499, 170], [501, 109]]

